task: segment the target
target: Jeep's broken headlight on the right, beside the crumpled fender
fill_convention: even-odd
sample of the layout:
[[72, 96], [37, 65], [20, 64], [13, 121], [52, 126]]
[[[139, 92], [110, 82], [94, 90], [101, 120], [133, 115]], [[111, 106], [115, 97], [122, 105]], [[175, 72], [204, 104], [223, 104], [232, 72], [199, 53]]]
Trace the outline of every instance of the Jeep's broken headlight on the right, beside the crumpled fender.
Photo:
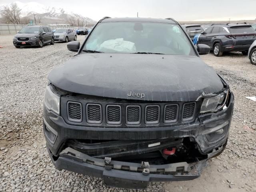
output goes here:
[[228, 98], [228, 92], [229, 90], [212, 98], [204, 98], [200, 113], [216, 112], [223, 108]]

